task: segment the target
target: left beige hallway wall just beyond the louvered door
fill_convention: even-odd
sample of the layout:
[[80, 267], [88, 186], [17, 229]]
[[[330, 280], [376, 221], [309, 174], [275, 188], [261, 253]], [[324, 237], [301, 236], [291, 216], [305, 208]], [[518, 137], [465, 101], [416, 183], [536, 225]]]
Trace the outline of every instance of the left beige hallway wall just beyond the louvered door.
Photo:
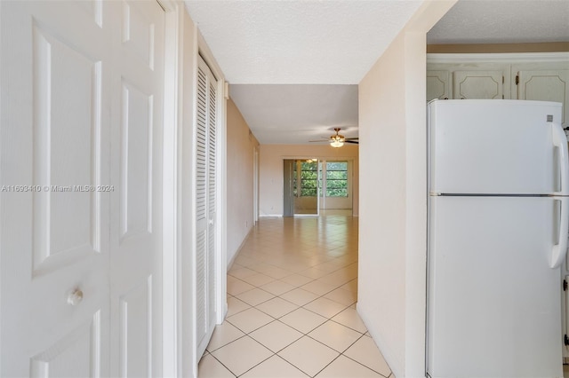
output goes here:
[[253, 223], [253, 151], [259, 142], [252, 135], [243, 115], [232, 99], [228, 99], [228, 260], [231, 264], [237, 250], [252, 229]]

